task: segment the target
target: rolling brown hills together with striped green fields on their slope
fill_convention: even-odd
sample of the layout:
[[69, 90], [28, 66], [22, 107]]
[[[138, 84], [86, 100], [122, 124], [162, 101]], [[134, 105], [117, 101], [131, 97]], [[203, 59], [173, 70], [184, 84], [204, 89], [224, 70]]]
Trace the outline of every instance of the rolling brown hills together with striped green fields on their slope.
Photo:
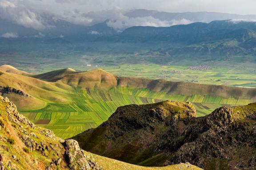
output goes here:
[[20, 89], [32, 97], [3, 95], [14, 101], [33, 123], [51, 129], [63, 139], [96, 128], [108, 120], [116, 108], [128, 104], [163, 100], [192, 102], [197, 115], [205, 116], [223, 105], [230, 107], [256, 101], [253, 88], [117, 77], [104, 70], [64, 69], [29, 76], [12, 72], [0, 72], [0, 86]]

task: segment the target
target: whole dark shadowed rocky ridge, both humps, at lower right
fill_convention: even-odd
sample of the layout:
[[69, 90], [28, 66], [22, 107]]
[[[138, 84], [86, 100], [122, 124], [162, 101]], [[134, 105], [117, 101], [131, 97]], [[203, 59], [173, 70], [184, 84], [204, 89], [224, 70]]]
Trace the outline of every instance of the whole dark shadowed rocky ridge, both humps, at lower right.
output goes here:
[[252, 170], [256, 103], [221, 107], [198, 118], [189, 104], [129, 105], [74, 139], [87, 151], [140, 165], [189, 162], [205, 170]]

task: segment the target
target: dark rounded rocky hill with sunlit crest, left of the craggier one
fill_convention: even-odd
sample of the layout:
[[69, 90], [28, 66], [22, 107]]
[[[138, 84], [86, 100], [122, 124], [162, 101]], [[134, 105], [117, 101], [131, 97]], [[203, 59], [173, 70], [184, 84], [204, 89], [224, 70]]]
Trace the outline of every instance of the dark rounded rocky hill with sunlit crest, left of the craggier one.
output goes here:
[[[164, 153], [165, 148], [160, 143], [169, 137], [166, 134], [171, 134], [172, 138], [180, 136], [194, 117], [196, 109], [190, 103], [132, 104], [118, 108], [108, 121], [74, 139], [92, 153], [138, 164]], [[164, 160], [152, 160], [151, 163], [160, 164]]]

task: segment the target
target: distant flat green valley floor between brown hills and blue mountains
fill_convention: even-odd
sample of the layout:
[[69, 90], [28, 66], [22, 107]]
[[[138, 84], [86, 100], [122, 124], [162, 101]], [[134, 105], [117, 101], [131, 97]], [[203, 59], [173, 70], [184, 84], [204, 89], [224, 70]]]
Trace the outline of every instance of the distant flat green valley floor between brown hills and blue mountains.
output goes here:
[[[148, 58], [152, 57], [156, 61], [160, 58], [157, 54], [148, 54], [147, 50], [142, 50], [138, 53], [125, 53], [124, 51], [122, 53], [111, 53], [109, 51], [96, 53], [79, 50], [53, 51], [52, 49], [47, 49], [11, 53], [8, 54], [8, 58], [4, 58], [1, 62], [30, 73], [45, 73], [68, 67], [78, 71], [100, 68], [123, 77], [163, 78], [168, 81], [192, 81], [211, 85], [256, 87], [256, 62], [254, 56], [233, 57], [232, 60], [220, 58], [212, 58], [212, 60], [203, 58], [175, 59], [170, 57], [169, 61], [161, 64], [148, 60]], [[200, 65], [207, 65], [212, 69], [186, 70], [191, 66]]]

